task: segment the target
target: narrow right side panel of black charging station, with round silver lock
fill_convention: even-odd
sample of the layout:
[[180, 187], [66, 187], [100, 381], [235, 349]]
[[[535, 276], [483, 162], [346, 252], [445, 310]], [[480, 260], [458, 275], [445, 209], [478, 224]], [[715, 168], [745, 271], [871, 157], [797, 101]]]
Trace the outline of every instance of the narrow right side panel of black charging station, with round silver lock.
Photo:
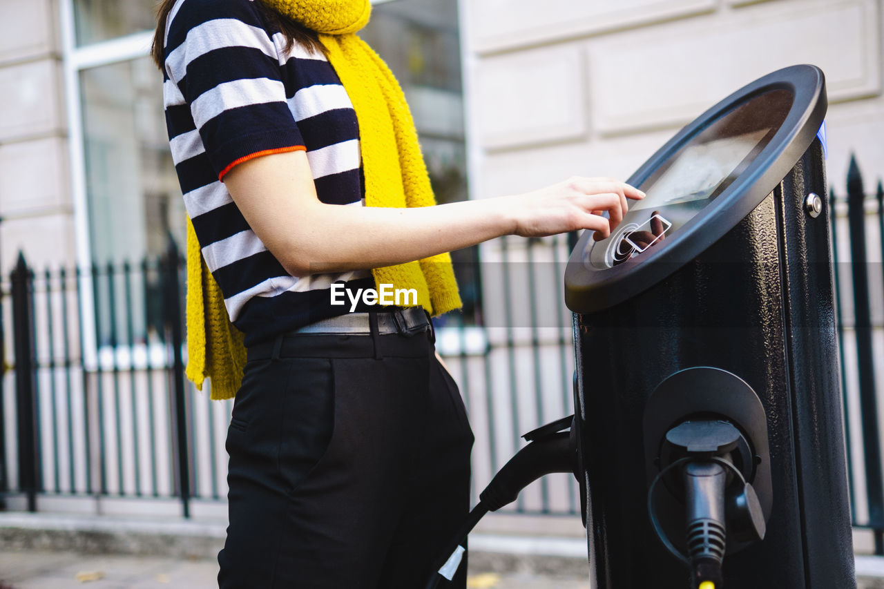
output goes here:
[[826, 195], [819, 142], [782, 182], [781, 266], [789, 349], [789, 392], [796, 437], [798, 493], [804, 518], [808, 587], [855, 586], [842, 396], [834, 332], [829, 207], [804, 213], [808, 193]]

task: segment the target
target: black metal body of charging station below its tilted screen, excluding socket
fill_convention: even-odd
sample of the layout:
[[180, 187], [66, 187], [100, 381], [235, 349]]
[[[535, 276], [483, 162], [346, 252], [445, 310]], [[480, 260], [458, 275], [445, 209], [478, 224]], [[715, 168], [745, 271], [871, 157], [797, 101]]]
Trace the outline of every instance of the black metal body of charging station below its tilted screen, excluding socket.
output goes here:
[[[691, 366], [745, 380], [764, 406], [773, 472], [767, 535], [725, 559], [728, 587], [855, 586], [827, 211], [819, 142], [755, 210], [669, 278], [578, 316], [577, 416], [599, 589], [684, 589], [687, 570], [644, 508], [642, 417], [660, 381]], [[802, 179], [805, 180], [802, 180]], [[582, 364], [582, 365], [581, 365]]]

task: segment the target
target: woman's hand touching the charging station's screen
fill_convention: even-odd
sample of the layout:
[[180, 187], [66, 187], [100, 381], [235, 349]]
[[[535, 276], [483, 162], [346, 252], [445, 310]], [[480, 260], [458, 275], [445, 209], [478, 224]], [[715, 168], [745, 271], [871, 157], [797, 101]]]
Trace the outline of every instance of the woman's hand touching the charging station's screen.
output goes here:
[[[598, 240], [620, 225], [629, 210], [627, 199], [641, 198], [644, 198], [642, 191], [612, 178], [572, 176], [550, 187], [500, 200], [507, 201], [504, 206], [514, 223], [511, 233], [543, 237], [591, 229]], [[608, 218], [602, 217], [605, 211]]]

